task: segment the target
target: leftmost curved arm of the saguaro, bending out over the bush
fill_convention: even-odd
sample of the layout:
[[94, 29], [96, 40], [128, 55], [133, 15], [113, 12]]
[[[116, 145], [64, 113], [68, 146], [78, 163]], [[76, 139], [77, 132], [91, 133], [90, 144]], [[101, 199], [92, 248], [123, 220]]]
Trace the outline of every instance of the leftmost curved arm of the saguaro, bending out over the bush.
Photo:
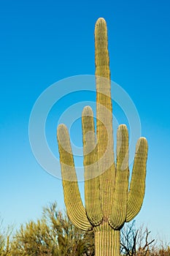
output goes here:
[[82, 230], [91, 230], [93, 227], [90, 225], [88, 217], [86, 216], [77, 184], [69, 132], [64, 124], [58, 126], [57, 138], [61, 161], [64, 202], [66, 204], [67, 214], [76, 227]]

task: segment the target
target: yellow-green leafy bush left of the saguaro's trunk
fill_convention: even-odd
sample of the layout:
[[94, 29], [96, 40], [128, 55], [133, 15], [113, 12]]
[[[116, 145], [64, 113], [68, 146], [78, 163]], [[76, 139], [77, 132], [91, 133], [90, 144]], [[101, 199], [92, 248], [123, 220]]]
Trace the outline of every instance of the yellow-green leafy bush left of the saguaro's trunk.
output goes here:
[[66, 214], [58, 211], [56, 203], [50, 203], [41, 219], [27, 222], [15, 231], [9, 249], [5, 246], [0, 255], [93, 256], [94, 234], [74, 227]]

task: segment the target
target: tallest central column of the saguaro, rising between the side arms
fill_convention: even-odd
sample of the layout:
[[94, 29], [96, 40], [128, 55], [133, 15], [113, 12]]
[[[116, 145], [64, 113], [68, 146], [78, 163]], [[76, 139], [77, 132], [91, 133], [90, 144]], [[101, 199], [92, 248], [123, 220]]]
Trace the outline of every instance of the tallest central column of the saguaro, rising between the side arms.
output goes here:
[[95, 64], [98, 162], [105, 154], [104, 160], [99, 162], [101, 206], [107, 221], [114, 193], [115, 164], [107, 24], [103, 18], [99, 18], [95, 26]]

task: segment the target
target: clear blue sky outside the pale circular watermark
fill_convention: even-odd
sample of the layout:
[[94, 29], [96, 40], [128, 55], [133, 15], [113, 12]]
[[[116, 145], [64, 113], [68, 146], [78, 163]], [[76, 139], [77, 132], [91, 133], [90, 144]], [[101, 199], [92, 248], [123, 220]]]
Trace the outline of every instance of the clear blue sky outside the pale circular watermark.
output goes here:
[[[169, 0], [1, 1], [0, 212], [5, 223], [36, 219], [54, 200], [64, 207], [61, 180], [42, 170], [32, 154], [29, 116], [52, 83], [94, 74], [94, 25], [104, 17], [112, 80], [133, 99], [149, 143], [147, 189], [136, 221], [152, 236], [159, 233], [170, 241], [169, 12]], [[55, 132], [50, 136], [55, 141]]]

